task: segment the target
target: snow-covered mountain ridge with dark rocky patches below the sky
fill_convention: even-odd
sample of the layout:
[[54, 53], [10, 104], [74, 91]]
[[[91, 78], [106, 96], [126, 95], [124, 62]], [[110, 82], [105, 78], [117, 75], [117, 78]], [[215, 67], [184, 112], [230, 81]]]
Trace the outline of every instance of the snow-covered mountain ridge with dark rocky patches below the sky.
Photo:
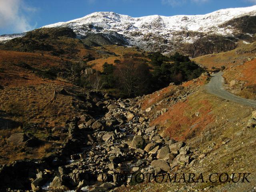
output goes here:
[[[122, 38], [122, 42], [145, 50], [181, 50], [190, 56], [198, 56], [235, 48], [238, 40], [252, 42], [256, 31], [256, 6], [170, 17], [132, 18], [114, 12], [95, 12], [42, 28], [52, 27], [72, 28], [81, 38], [100, 33], [110, 40], [113, 36], [114, 39]], [[200, 51], [199, 48], [206, 50]]]

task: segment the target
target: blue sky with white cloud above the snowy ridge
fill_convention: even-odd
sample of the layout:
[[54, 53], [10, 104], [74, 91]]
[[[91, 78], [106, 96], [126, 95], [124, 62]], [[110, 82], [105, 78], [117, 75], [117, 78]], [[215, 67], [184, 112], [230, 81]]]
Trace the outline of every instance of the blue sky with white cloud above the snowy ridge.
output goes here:
[[98, 11], [132, 17], [173, 16], [255, 4], [256, 0], [0, 0], [0, 35], [25, 32]]

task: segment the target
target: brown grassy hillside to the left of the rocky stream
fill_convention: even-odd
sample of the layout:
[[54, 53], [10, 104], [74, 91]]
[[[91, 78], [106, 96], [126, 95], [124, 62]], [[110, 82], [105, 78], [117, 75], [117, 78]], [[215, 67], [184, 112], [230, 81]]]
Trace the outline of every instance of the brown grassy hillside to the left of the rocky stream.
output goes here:
[[[50, 80], [36, 74], [36, 71], [44, 71], [49, 68], [58, 69], [58, 72], [67, 70], [68, 60], [56, 56], [38, 53], [0, 51], [0, 126], [2, 129], [8, 126], [8, 130], [0, 130], [0, 163], [8, 163], [14, 160], [26, 158], [40, 158], [50, 154], [50, 150], [40, 148], [27, 148], [14, 146], [6, 143], [5, 138], [15, 132], [22, 132], [15, 122], [39, 123], [38, 130], [28, 130], [34, 136], [46, 140], [49, 136], [47, 130], [53, 127], [65, 125], [66, 120], [75, 115], [83, 114], [84, 101], [76, 95], [84, 94], [84, 90], [67, 82], [63, 78]], [[31, 68], [19, 66], [25, 62]], [[32, 72], [34, 70], [34, 73]], [[69, 95], [57, 94], [52, 99], [54, 90], [64, 88]], [[10, 122], [14, 122], [11, 124]], [[10, 129], [11, 128], [11, 129]], [[65, 134], [54, 132], [52, 136]], [[53, 142], [59, 146], [62, 142]]]

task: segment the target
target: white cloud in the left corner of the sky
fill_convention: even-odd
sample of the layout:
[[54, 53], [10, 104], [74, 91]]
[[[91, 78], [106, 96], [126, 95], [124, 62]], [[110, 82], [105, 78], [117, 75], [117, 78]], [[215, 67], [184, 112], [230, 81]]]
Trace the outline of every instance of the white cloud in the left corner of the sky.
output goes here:
[[35, 11], [22, 0], [0, 0], [0, 28], [10, 28], [16, 33], [32, 30], [35, 26], [29, 24], [25, 14]]

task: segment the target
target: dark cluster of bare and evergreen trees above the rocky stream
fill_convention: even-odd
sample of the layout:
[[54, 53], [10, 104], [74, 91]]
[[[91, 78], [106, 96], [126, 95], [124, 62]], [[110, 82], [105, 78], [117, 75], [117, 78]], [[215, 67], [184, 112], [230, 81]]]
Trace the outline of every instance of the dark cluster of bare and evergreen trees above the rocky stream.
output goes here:
[[[103, 71], [95, 71], [90, 75], [82, 75], [81, 86], [98, 91], [101, 88], [116, 89], [125, 97], [148, 94], [168, 86], [170, 82], [180, 84], [186, 80], [197, 78], [204, 72], [188, 56], [175, 53], [167, 57], [160, 52], [152, 53], [151, 67], [136, 57], [125, 57], [115, 60], [115, 65], [105, 63]], [[77, 70], [77, 69], [76, 69]]]

